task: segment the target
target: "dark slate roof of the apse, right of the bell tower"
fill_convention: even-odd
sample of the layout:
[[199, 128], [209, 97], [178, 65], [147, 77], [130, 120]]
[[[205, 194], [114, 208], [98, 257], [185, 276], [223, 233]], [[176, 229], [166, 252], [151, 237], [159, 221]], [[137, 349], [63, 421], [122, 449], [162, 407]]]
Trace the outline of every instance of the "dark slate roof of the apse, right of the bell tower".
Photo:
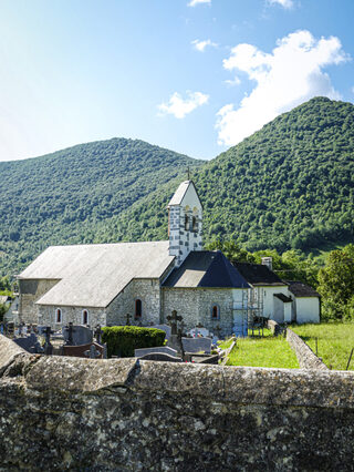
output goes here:
[[171, 271], [164, 287], [250, 288], [241, 274], [219, 250], [192, 250], [180, 267]]

